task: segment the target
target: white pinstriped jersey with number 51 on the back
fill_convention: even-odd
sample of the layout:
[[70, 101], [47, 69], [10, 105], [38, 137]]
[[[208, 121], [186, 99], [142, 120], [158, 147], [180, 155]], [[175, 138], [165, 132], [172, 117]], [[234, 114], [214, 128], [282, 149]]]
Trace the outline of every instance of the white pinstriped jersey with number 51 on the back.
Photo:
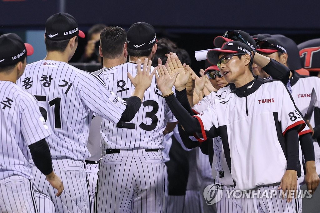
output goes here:
[[17, 84], [38, 99], [52, 132], [48, 138], [52, 158], [90, 157], [86, 144], [92, 113], [117, 123], [126, 108], [125, 101], [108, 91], [98, 76], [65, 62], [29, 64]]

